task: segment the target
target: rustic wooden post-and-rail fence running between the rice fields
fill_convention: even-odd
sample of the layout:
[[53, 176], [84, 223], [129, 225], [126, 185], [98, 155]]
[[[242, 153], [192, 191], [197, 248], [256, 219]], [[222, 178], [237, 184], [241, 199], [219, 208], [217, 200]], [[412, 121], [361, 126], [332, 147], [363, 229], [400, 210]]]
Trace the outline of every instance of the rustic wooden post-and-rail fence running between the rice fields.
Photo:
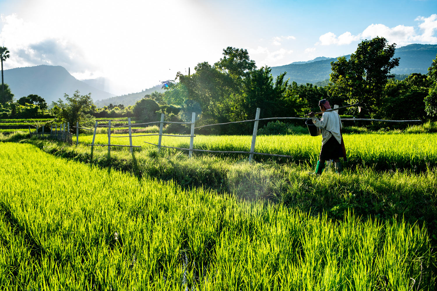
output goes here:
[[[91, 144], [86, 144], [87, 146], [91, 146], [91, 152], [94, 149], [94, 146], [98, 146], [98, 147], [106, 147], [108, 146], [108, 157], [110, 157], [111, 155], [111, 147], [129, 147], [130, 148], [130, 152], [132, 153], [132, 149], [134, 147], [141, 147], [141, 146], [134, 146], [132, 144], [132, 137], [146, 137], [146, 136], [158, 136], [158, 144], [153, 144], [153, 143], [149, 143], [147, 141], [144, 141], [144, 143], [146, 144], [151, 144], [153, 146], [158, 147], [158, 151], [160, 150], [161, 147], [166, 147], [166, 148], [172, 148], [172, 149], [177, 149], [177, 150], [182, 150], [182, 151], [189, 151], [189, 157], [192, 157], [192, 154], [194, 152], [206, 152], [206, 153], [217, 153], [217, 154], [227, 154], [227, 153], [233, 153], [233, 154], [249, 154], [249, 160], [253, 159], [253, 155], [257, 154], [257, 155], [264, 155], [264, 156], [271, 156], [271, 157], [285, 157], [285, 158], [292, 158], [292, 156], [288, 156], [288, 155], [284, 155], [284, 154], [269, 154], [269, 153], [258, 153], [255, 152], [255, 143], [256, 143], [256, 138], [257, 138], [257, 131], [258, 131], [258, 122], [260, 120], [308, 120], [309, 117], [269, 117], [269, 118], [259, 118], [260, 117], [260, 108], [257, 108], [257, 112], [255, 114], [255, 119], [252, 120], [241, 120], [241, 121], [232, 121], [232, 122], [225, 122], [225, 123], [215, 123], [215, 124], [207, 124], [207, 125], [202, 125], [199, 127], [195, 127], [194, 123], [196, 120], [196, 113], [192, 113], [191, 116], [191, 122], [173, 122], [173, 121], [164, 121], [164, 114], [161, 114], [161, 120], [160, 121], [152, 121], [152, 122], [146, 122], [146, 123], [131, 123], [131, 118], [128, 117], [128, 123], [127, 124], [123, 124], [123, 125], [118, 125], [118, 126], [114, 126], [111, 127], [111, 121], [124, 121], [124, 120], [96, 120], [96, 124], [94, 127], [91, 128], [85, 128], [85, 127], [79, 127], [79, 123], [76, 122], [76, 126], [73, 126], [72, 128], [76, 128], [76, 146], [79, 144], [79, 129], [83, 129], [83, 130], [89, 130], [89, 131], [94, 131], [93, 134], [93, 141]], [[394, 122], [394, 123], [401, 123], [401, 122], [421, 122], [422, 120], [382, 120], [382, 119], [367, 119], [367, 118], [341, 118], [342, 121], [375, 121], [375, 122]], [[106, 124], [98, 124], [99, 121], [108, 121], [108, 125]], [[198, 128], [203, 128], [203, 127], [210, 127], [210, 126], [216, 126], [216, 125], [225, 125], [225, 124], [233, 124], [233, 123], [243, 123], [243, 122], [253, 122], [253, 133], [252, 133], [252, 141], [250, 144], [250, 151], [211, 151], [211, 150], [201, 150], [201, 149], [194, 149], [193, 148], [193, 144], [194, 144], [194, 137], [196, 137], [194, 135], [194, 130], [198, 129]], [[137, 134], [137, 135], [132, 135], [132, 127], [133, 126], [139, 126], [139, 125], [147, 125], [147, 124], [160, 124], [160, 133], [159, 134]], [[163, 125], [164, 123], [176, 123], [176, 124], [186, 124], [186, 125], [191, 125], [191, 133], [190, 135], [177, 135], [177, 134], [163, 134]], [[120, 124], [120, 123], [118, 123]], [[50, 130], [50, 134], [45, 134], [44, 133], [44, 127], [42, 127], [42, 133], [39, 134], [38, 133], [38, 127], [37, 132], [36, 133], [31, 133], [30, 127], [29, 127], [29, 134], [32, 135], [37, 135], [37, 136], [49, 136], [49, 137], [54, 137], [60, 140], [64, 140], [66, 142], [68, 142], [69, 144], [72, 144], [72, 134], [69, 133], [69, 123], [67, 123], [67, 127], [68, 130], [66, 132], [66, 124], [63, 123], [60, 127], [60, 130], [58, 131], [58, 126], [55, 125], [55, 131], [53, 131], [53, 127]], [[96, 137], [96, 133], [97, 133], [97, 127], [107, 127], [108, 128], [108, 144], [95, 144], [95, 137]], [[121, 127], [128, 127], [128, 132], [129, 135], [122, 135], [122, 136], [115, 136], [111, 134], [111, 129], [112, 128], [121, 128]], [[164, 146], [161, 145], [161, 140], [162, 137], [166, 136], [166, 137], [190, 137], [190, 147], [189, 148], [184, 148], [184, 147], [169, 147], [169, 146]], [[111, 137], [129, 137], [129, 145], [123, 145], [123, 144], [111, 144]]]

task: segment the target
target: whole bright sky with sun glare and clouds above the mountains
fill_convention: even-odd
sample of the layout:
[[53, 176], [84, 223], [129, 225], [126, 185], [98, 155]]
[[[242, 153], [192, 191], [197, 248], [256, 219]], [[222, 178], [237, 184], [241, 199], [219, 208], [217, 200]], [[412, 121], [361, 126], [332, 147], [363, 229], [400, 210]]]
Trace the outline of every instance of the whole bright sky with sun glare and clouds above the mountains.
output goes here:
[[[164, 3], [164, 4], [163, 4]], [[261, 65], [355, 51], [364, 38], [437, 43], [437, 1], [0, 0], [5, 69], [62, 65], [77, 79], [141, 91], [227, 46]]]

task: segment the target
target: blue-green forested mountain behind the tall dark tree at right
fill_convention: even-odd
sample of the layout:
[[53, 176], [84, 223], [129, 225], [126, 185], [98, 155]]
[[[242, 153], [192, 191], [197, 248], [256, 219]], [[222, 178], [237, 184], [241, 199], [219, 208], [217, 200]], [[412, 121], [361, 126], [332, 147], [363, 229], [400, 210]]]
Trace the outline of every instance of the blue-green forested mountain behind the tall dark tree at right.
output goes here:
[[[437, 45], [413, 44], [396, 48], [395, 58], [401, 59], [399, 60], [399, 66], [394, 68], [392, 73], [399, 75], [409, 75], [411, 73], [426, 74], [436, 55]], [[350, 58], [350, 55], [346, 55], [346, 57]], [[329, 79], [331, 62], [335, 62], [337, 58], [327, 58], [320, 61], [316, 61], [316, 59], [308, 63], [291, 63], [289, 65], [272, 67], [271, 74], [276, 77], [283, 72], [287, 72], [285, 79], [290, 78], [290, 81], [296, 81], [299, 84], [323, 82]]]

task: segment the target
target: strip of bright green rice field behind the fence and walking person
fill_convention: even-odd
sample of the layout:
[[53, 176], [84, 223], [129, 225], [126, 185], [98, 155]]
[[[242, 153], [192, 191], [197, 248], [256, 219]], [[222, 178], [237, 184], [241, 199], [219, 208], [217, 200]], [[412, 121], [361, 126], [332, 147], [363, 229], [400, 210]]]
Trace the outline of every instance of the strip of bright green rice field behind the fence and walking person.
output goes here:
[[[113, 134], [126, 136], [126, 134]], [[91, 144], [92, 135], [80, 135], [79, 142]], [[427, 171], [437, 166], [437, 134], [343, 134], [350, 166], [372, 167], [376, 170]], [[212, 151], [250, 151], [252, 136], [194, 137], [194, 149]], [[322, 137], [309, 135], [257, 136], [255, 152], [292, 156], [288, 161], [314, 164], [318, 160]], [[133, 145], [155, 147], [157, 136], [133, 137]], [[95, 144], [108, 144], [108, 134], [97, 134]], [[128, 137], [111, 137], [111, 144], [129, 145]], [[189, 148], [189, 137], [162, 137], [162, 145]], [[117, 150], [114, 147], [114, 150]], [[119, 149], [120, 150], [120, 149]], [[126, 149], [122, 149], [126, 150]], [[176, 152], [177, 150], [169, 150]], [[262, 157], [257, 157], [262, 158]], [[282, 158], [284, 160], [284, 158]]]

